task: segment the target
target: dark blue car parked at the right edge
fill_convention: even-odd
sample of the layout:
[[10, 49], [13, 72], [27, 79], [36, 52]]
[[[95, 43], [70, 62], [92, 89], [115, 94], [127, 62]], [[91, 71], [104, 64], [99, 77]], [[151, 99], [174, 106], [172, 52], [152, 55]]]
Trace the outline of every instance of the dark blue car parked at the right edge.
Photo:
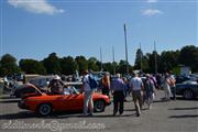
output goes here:
[[176, 95], [182, 95], [185, 99], [194, 99], [198, 97], [198, 84], [196, 81], [177, 84]]

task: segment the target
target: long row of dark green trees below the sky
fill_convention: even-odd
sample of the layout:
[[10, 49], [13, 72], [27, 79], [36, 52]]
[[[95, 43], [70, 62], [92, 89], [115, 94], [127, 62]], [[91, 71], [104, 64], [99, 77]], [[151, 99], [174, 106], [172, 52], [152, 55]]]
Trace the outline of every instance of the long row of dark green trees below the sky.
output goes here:
[[[198, 47], [188, 45], [180, 51], [164, 51], [161, 54], [153, 52], [146, 53], [145, 55], [139, 48], [136, 51], [134, 67], [129, 65], [130, 73], [133, 69], [141, 68], [143, 73], [155, 73], [155, 58], [158, 73], [177, 69], [176, 67], [179, 65], [189, 66], [193, 73], [198, 72]], [[111, 74], [127, 74], [127, 62], [122, 59], [119, 63], [102, 63], [102, 68]], [[58, 57], [56, 53], [51, 53], [43, 61], [22, 58], [19, 61], [19, 66], [16, 58], [10, 54], [4, 54], [0, 59], [0, 76], [18, 74], [21, 70], [26, 74], [73, 75], [76, 70], [82, 73], [85, 69], [99, 72], [101, 70], [101, 62], [96, 57], [87, 59], [82, 55], [76, 56], [75, 58], [72, 56]]]

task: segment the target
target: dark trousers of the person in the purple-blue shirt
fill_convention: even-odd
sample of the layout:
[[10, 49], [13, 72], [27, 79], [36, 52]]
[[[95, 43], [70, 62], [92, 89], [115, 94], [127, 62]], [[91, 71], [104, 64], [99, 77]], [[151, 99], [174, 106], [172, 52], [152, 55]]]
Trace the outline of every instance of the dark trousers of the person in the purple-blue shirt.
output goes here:
[[118, 107], [120, 114], [123, 113], [123, 99], [124, 99], [123, 91], [113, 92], [113, 114], [118, 112]]

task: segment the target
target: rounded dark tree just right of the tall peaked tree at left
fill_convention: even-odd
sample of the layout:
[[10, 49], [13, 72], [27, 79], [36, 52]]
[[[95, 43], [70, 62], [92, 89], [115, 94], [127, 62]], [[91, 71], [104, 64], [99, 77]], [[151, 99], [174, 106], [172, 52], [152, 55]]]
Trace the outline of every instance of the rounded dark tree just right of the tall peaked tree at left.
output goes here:
[[73, 75], [77, 70], [78, 65], [72, 56], [67, 56], [61, 58], [61, 67], [62, 74]]

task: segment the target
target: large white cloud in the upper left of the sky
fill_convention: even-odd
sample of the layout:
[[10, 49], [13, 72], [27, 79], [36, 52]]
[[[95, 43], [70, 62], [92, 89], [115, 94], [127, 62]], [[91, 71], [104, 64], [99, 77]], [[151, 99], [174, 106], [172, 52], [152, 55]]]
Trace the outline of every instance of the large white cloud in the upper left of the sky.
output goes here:
[[63, 13], [63, 9], [50, 4], [47, 0], [8, 0], [8, 3], [33, 13], [54, 14]]

